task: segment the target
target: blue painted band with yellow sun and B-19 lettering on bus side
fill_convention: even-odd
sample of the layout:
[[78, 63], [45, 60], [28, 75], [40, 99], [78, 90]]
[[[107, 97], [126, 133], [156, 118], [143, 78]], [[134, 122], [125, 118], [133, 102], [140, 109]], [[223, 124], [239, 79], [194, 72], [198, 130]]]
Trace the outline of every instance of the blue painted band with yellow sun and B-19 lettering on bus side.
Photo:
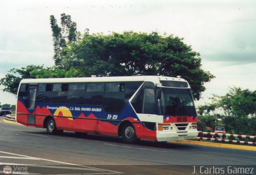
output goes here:
[[106, 113], [103, 106], [99, 105], [67, 105], [67, 104], [51, 104], [36, 103], [36, 109], [26, 109], [24, 100], [18, 97], [18, 101], [22, 103], [24, 113], [28, 114], [52, 115], [54, 117], [68, 117], [73, 120], [79, 118], [100, 119], [113, 125], [118, 125], [120, 121], [128, 117], [140, 121], [130, 103], [127, 103], [120, 113]]

